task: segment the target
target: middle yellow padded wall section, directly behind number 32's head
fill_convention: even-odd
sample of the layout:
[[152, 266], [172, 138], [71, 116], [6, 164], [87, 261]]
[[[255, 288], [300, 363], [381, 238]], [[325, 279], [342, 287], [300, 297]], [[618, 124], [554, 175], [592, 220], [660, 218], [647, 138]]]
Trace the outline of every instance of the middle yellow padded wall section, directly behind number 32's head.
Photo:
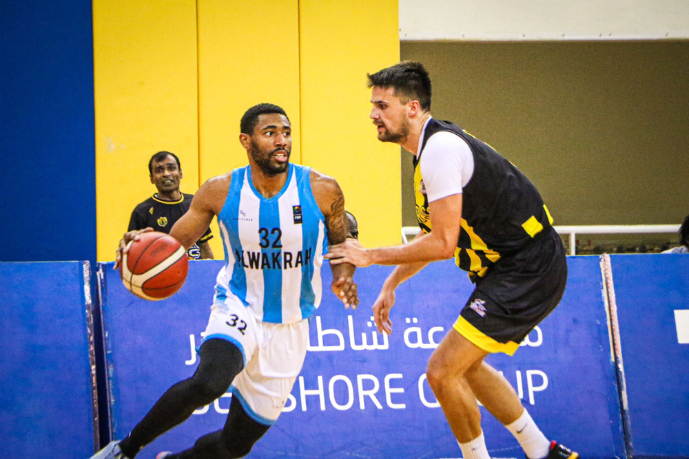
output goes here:
[[[300, 163], [297, 0], [198, 0], [200, 183], [249, 162], [239, 122], [249, 107], [274, 103], [293, 131], [291, 161]], [[223, 257], [218, 224], [210, 240]]]

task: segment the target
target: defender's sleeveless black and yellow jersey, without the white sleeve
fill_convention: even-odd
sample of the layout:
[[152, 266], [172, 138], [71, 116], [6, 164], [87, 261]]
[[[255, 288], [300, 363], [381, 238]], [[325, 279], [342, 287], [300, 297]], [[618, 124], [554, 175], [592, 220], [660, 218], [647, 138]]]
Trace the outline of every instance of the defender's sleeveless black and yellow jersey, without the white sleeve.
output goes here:
[[462, 220], [455, 263], [476, 281], [476, 277], [484, 277], [502, 255], [523, 248], [539, 234], [548, 233], [544, 230], [551, 228], [553, 219], [536, 187], [514, 164], [452, 122], [431, 118], [426, 125], [421, 151], [413, 160], [416, 217], [424, 233], [432, 228], [419, 162], [426, 142], [440, 131], [464, 139], [473, 154], [473, 175], [462, 191]]

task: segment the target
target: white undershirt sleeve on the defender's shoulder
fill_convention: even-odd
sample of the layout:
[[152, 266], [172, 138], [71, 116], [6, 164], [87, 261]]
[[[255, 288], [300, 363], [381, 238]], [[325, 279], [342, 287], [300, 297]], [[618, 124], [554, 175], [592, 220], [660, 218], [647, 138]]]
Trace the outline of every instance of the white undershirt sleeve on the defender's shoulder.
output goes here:
[[456, 134], [437, 132], [426, 142], [419, 167], [429, 202], [462, 193], [474, 170], [471, 147]]

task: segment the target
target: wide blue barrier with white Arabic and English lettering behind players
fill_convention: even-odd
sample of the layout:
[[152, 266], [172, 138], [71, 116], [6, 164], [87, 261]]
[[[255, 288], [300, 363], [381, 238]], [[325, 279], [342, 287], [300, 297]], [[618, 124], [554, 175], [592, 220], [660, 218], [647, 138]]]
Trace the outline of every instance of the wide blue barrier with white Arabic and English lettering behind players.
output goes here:
[[[110, 409], [123, 438], [165, 390], [191, 376], [221, 261], [190, 265], [174, 297], [150, 302], [122, 286], [112, 264], [100, 271]], [[598, 257], [570, 257], [560, 305], [515, 356], [491, 355], [546, 436], [586, 458], [626, 457]], [[452, 261], [426, 267], [398, 288], [393, 334], [376, 332], [370, 307], [391, 268], [358, 270], [361, 305], [345, 310], [329, 291], [311, 320], [309, 352], [290, 400], [249, 457], [457, 458], [442, 409], [425, 379], [433, 348], [450, 330], [472, 285]], [[223, 427], [229, 394], [158, 438], [137, 458], [180, 451]], [[516, 440], [482, 409], [493, 457], [523, 457]]]

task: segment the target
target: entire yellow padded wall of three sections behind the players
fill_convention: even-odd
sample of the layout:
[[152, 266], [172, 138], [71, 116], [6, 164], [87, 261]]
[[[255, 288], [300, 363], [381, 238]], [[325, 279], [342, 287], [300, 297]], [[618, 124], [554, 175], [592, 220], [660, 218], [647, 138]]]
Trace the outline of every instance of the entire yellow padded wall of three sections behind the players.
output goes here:
[[[180, 156], [194, 193], [247, 164], [239, 120], [263, 102], [287, 111], [291, 160], [338, 179], [362, 240], [399, 241], [399, 149], [376, 140], [365, 85], [398, 61], [396, 1], [94, 0], [93, 12], [99, 259], [154, 193], [155, 151]], [[219, 237], [211, 246], [222, 257]]]

